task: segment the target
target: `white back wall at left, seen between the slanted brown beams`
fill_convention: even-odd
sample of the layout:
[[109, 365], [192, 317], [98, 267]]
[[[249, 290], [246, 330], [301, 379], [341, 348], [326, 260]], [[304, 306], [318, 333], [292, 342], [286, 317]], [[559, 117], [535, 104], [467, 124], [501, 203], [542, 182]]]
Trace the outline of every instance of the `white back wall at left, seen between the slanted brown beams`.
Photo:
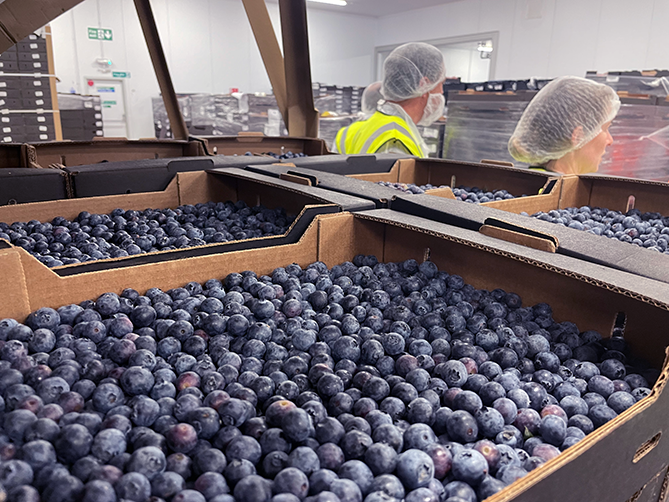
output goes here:
[[[178, 93], [270, 92], [271, 85], [239, 0], [153, 0], [152, 6]], [[280, 39], [277, 4], [268, 3]], [[372, 78], [376, 19], [309, 9], [312, 79], [367, 85]], [[112, 42], [88, 40], [88, 27], [111, 28]], [[129, 71], [125, 81], [129, 136], [152, 137], [151, 97], [159, 95], [132, 0], [85, 0], [51, 22], [59, 92], [86, 92], [100, 76], [94, 61]]]

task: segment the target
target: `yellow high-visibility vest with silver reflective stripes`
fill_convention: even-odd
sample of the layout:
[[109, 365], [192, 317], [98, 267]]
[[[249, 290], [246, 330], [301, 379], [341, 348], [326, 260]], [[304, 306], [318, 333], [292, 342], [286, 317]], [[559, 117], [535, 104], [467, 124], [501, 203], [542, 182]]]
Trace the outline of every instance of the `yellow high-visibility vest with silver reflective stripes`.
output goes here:
[[376, 153], [388, 141], [399, 141], [411, 155], [427, 157], [427, 152], [420, 146], [420, 138], [415, 137], [404, 119], [381, 112], [340, 129], [335, 145], [339, 153], [352, 155]]

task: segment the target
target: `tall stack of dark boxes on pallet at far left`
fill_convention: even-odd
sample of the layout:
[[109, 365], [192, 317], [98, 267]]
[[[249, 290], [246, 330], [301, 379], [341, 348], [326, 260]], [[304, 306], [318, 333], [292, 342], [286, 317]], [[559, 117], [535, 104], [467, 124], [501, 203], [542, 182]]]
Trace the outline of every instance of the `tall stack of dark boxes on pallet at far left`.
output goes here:
[[47, 36], [29, 35], [0, 54], [0, 140], [4, 143], [59, 139]]

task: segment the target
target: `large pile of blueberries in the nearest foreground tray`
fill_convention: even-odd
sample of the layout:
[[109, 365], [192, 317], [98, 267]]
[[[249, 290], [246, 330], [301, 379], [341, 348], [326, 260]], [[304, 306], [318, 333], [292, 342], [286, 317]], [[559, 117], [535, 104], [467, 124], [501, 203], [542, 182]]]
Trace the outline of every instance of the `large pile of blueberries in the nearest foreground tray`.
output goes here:
[[657, 375], [623, 337], [429, 261], [126, 289], [0, 321], [0, 485], [9, 502], [477, 502]]

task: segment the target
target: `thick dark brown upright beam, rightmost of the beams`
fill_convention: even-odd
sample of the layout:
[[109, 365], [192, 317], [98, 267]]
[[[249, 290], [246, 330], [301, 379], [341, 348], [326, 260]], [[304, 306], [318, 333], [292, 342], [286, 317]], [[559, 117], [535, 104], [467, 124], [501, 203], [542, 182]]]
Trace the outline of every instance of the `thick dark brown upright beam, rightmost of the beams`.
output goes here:
[[318, 112], [311, 86], [306, 1], [279, 0], [279, 10], [288, 98], [286, 126], [291, 136], [316, 138]]

